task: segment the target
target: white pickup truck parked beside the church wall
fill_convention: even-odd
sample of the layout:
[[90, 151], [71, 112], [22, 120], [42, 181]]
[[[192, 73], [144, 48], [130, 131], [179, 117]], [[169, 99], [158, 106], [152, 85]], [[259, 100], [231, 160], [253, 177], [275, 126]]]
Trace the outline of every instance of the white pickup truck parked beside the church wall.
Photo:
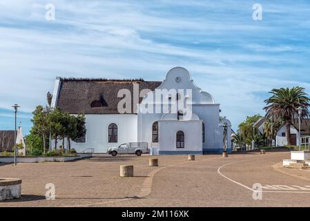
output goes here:
[[117, 154], [135, 154], [141, 156], [142, 153], [149, 153], [147, 142], [130, 142], [128, 144], [121, 144], [117, 147], [110, 147], [108, 154], [115, 157]]

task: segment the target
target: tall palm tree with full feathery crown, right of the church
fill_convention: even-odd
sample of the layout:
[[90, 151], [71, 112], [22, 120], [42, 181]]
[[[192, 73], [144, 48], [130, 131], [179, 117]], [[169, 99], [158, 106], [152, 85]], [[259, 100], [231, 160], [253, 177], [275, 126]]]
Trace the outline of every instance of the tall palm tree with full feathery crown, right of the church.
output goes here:
[[287, 144], [291, 145], [291, 125], [296, 121], [298, 116], [298, 107], [302, 107], [302, 119], [309, 117], [308, 107], [310, 99], [304, 92], [304, 88], [298, 86], [293, 88], [280, 88], [271, 90], [271, 97], [264, 102], [267, 106], [266, 118], [279, 120], [282, 119], [287, 127]]

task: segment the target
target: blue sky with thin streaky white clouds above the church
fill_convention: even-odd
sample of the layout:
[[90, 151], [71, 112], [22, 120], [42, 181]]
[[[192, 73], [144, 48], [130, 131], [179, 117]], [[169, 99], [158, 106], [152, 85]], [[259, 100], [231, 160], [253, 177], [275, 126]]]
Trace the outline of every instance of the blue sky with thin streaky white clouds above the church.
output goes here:
[[[55, 21], [45, 19], [47, 3]], [[262, 21], [252, 19], [254, 3]], [[55, 77], [162, 80], [187, 68], [236, 128], [272, 88], [309, 93], [310, 1], [0, 2], [0, 129], [23, 131]]]

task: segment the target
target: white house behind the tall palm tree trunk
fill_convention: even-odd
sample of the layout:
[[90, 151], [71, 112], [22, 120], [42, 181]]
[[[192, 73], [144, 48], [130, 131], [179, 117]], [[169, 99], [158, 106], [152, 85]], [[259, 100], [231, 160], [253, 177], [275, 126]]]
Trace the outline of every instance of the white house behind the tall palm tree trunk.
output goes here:
[[[301, 134], [301, 135], [300, 135]], [[300, 126], [300, 134], [298, 131], [298, 123], [291, 126], [291, 142], [292, 145], [299, 145], [299, 137], [302, 137], [302, 144], [309, 144], [310, 137], [310, 119], [302, 120]], [[276, 146], [287, 145], [287, 127], [283, 124], [280, 129], [277, 131], [275, 138]]]

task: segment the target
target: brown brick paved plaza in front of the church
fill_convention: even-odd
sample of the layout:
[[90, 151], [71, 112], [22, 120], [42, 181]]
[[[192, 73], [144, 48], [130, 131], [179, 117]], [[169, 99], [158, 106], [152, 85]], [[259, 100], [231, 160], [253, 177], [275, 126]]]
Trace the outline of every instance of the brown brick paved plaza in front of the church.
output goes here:
[[[0, 206], [310, 206], [310, 171], [279, 166], [289, 158], [287, 151], [196, 155], [195, 161], [160, 155], [158, 167], [148, 166], [151, 157], [1, 164], [0, 177], [23, 183], [22, 198]], [[119, 165], [126, 164], [134, 165], [135, 177], [119, 177]], [[55, 184], [56, 200], [45, 198], [48, 183]], [[253, 200], [255, 183], [273, 187], [263, 189], [262, 200]]]

